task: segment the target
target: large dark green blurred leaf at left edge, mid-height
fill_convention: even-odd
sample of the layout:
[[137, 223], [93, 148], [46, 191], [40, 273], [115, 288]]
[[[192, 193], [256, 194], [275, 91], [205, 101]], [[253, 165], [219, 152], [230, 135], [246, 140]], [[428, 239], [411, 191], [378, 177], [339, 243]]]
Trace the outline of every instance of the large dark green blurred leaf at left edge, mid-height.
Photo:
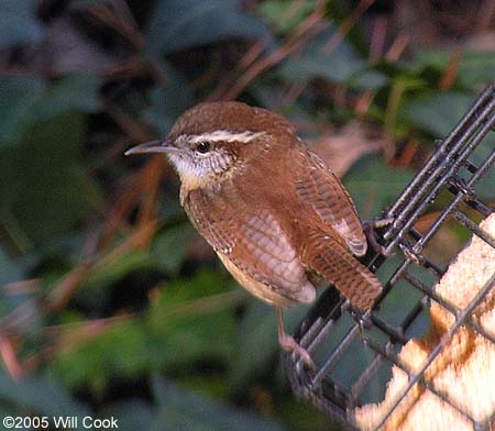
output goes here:
[[0, 223], [15, 225], [22, 245], [68, 232], [97, 202], [95, 185], [78, 163], [84, 132], [81, 115], [61, 115], [1, 151]]

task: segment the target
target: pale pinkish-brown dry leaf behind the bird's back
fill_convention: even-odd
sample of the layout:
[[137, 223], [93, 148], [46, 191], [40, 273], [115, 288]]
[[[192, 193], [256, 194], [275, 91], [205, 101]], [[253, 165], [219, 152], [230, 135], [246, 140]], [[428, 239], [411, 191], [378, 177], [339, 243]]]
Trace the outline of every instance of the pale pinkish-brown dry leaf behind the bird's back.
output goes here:
[[338, 133], [308, 141], [308, 144], [338, 177], [342, 177], [363, 155], [378, 152], [384, 146], [385, 139], [376, 136], [376, 131], [353, 121]]

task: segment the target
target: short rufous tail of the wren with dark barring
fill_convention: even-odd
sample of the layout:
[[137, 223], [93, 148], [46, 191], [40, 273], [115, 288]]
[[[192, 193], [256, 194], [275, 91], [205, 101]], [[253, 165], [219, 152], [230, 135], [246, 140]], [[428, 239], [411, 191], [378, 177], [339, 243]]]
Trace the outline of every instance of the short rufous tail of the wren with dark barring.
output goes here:
[[305, 263], [333, 284], [354, 307], [370, 309], [382, 292], [375, 275], [333, 239], [324, 236], [311, 244], [318, 245], [306, 248]]

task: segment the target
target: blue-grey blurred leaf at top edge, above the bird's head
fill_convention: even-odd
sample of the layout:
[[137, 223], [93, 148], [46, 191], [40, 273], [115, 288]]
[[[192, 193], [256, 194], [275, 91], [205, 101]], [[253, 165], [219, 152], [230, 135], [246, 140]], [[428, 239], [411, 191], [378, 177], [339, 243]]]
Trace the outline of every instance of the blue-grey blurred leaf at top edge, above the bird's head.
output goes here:
[[261, 37], [265, 24], [239, 0], [160, 0], [147, 30], [146, 55], [156, 57], [226, 37]]

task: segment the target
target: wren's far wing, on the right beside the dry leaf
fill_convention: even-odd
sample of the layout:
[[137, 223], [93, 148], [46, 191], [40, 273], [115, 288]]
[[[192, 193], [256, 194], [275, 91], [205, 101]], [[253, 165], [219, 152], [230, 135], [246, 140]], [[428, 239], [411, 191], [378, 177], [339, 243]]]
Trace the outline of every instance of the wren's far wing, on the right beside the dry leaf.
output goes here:
[[312, 206], [320, 219], [333, 228], [358, 256], [366, 253], [363, 233], [354, 203], [336, 175], [324, 163], [308, 151], [309, 157], [298, 157], [304, 163], [296, 180], [299, 198]]

